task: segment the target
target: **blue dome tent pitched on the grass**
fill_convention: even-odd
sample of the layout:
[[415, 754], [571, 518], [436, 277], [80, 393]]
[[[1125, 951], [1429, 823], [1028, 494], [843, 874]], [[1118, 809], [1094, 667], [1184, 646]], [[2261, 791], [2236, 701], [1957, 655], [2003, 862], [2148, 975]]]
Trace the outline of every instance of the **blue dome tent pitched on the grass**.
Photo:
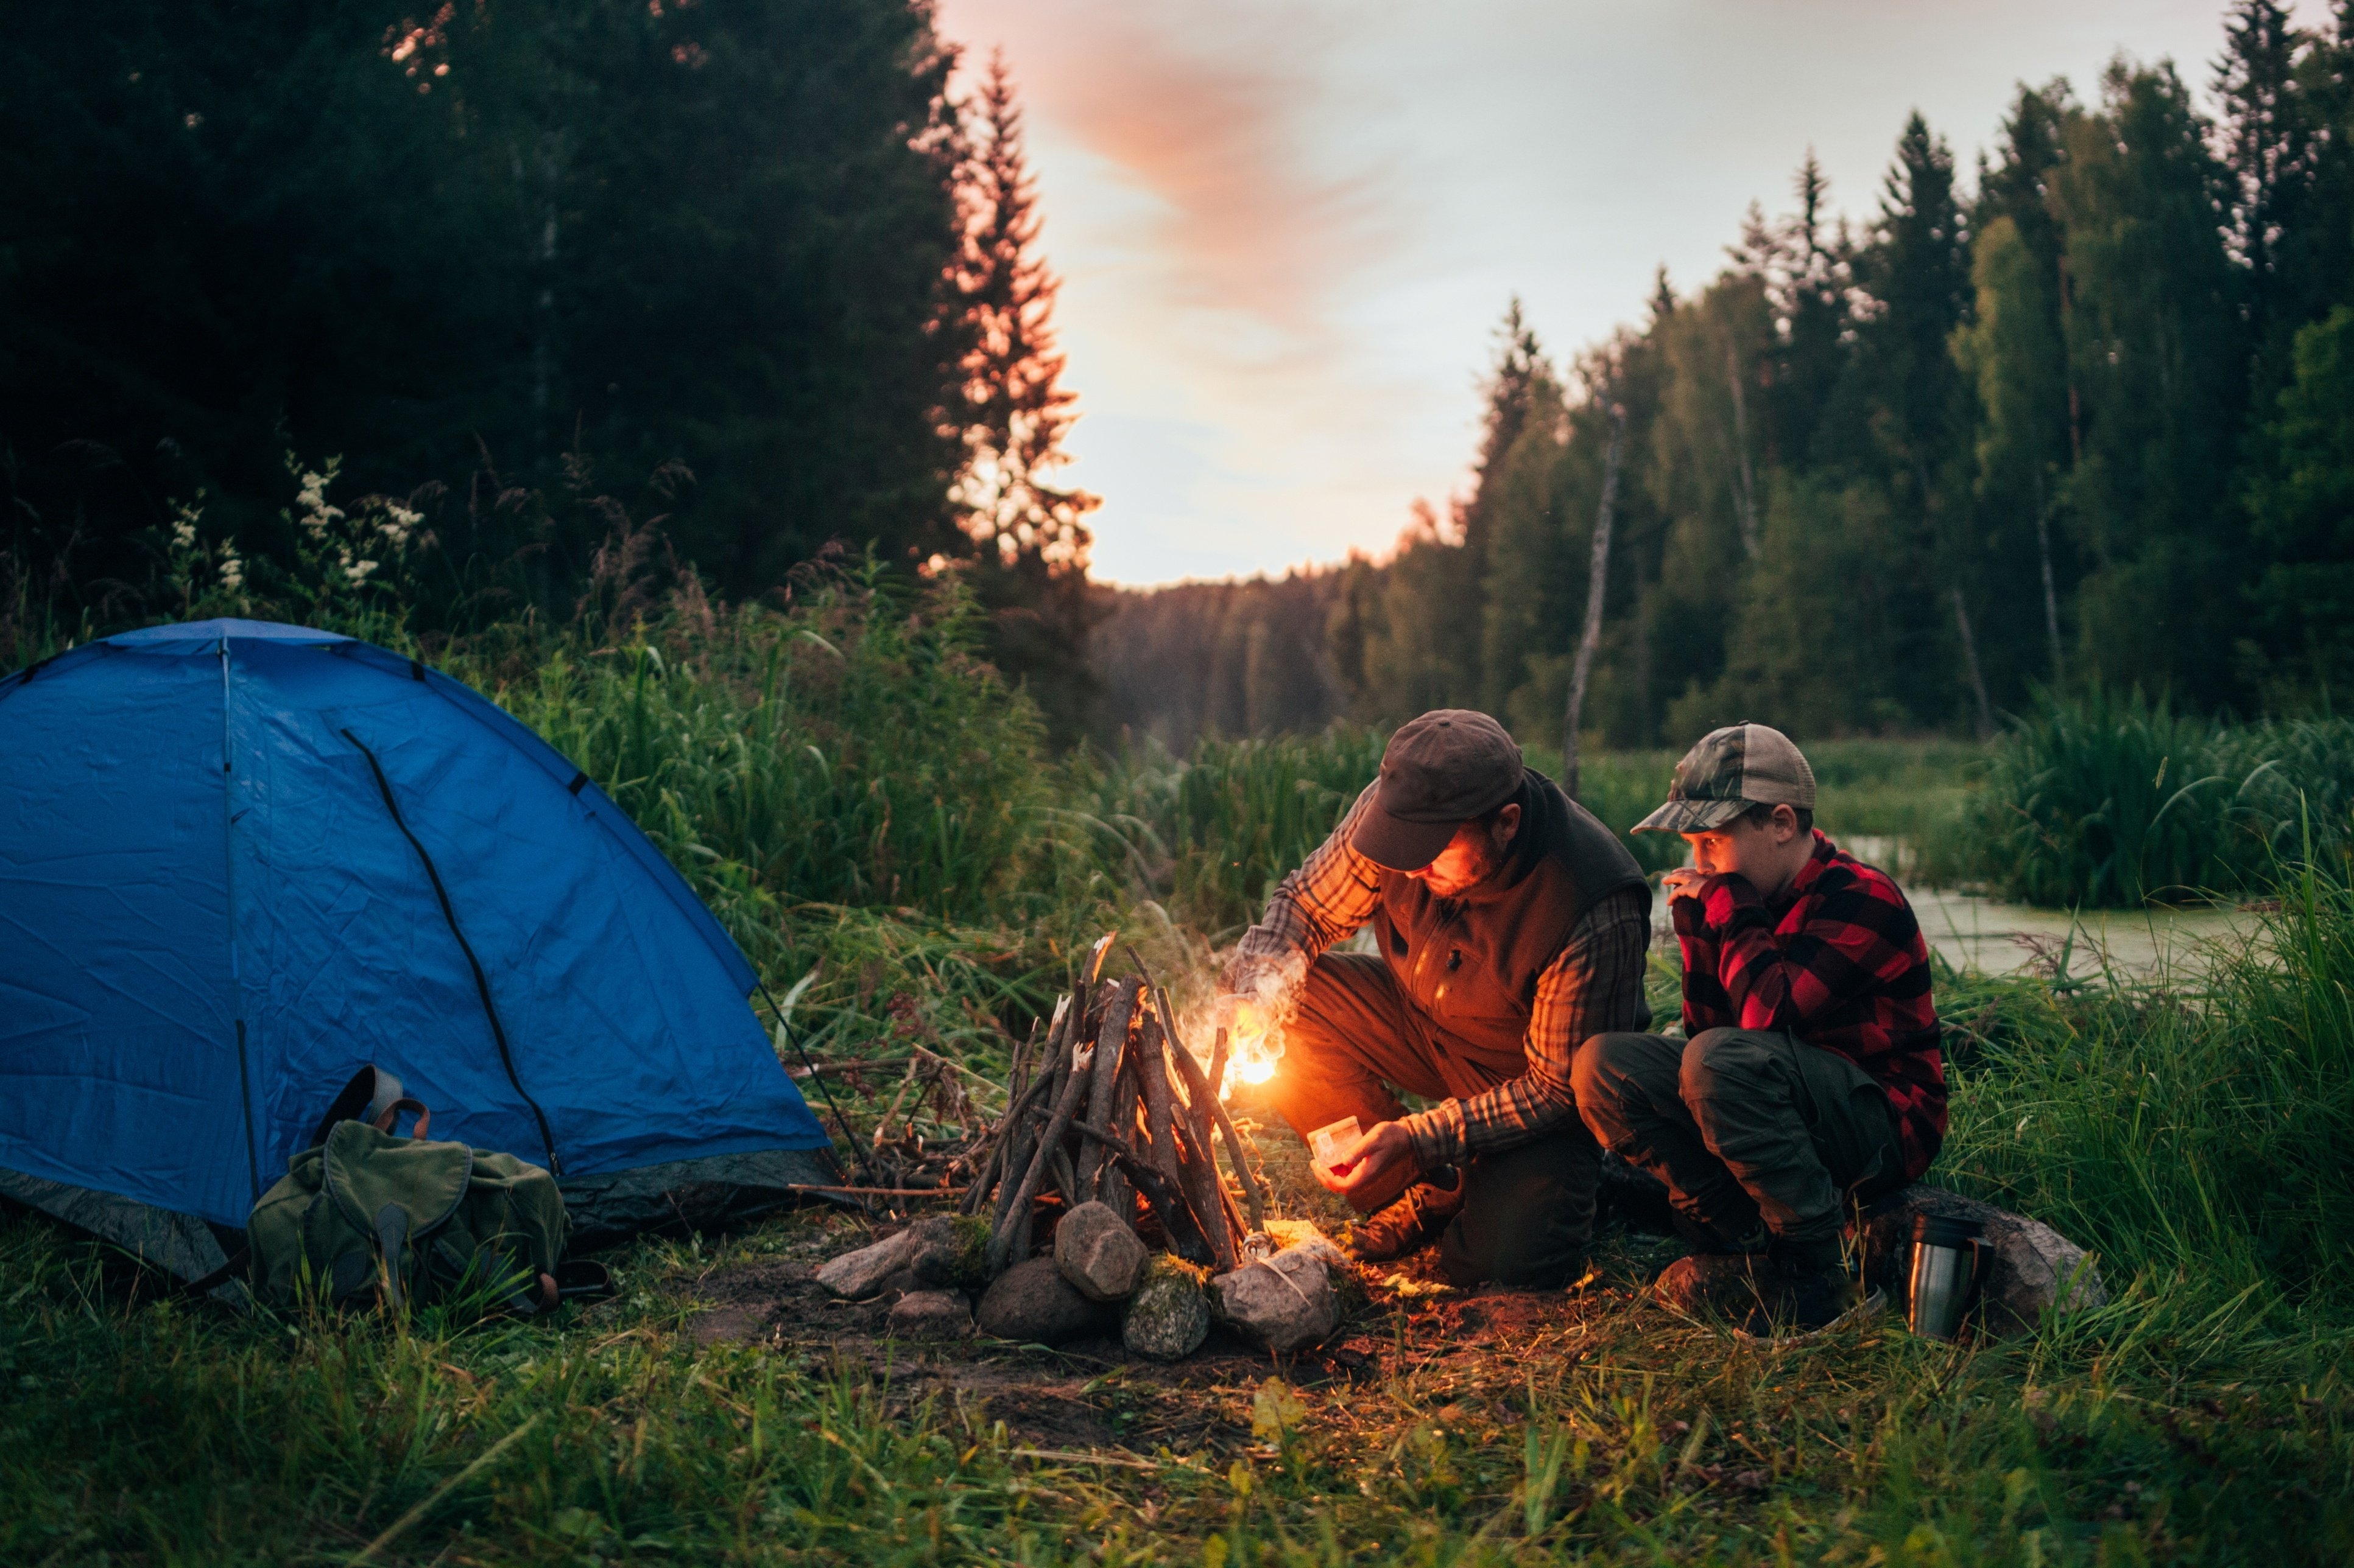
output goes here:
[[0, 680], [0, 1194], [184, 1276], [367, 1064], [596, 1241], [833, 1182], [751, 965], [466, 685], [153, 626]]

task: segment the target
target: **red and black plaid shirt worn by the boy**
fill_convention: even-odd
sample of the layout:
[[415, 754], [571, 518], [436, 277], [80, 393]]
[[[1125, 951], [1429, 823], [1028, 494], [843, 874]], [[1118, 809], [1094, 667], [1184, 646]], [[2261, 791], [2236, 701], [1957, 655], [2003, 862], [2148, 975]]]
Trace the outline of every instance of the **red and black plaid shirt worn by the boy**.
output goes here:
[[1709, 876], [1669, 911], [1683, 1031], [1787, 1029], [1848, 1057], [1888, 1090], [1904, 1175], [1919, 1180], [1944, 1142], [1944, 1052], [1928, 944], [1897, 885], [1817, 829], [1784, 904], [1744, 876]]

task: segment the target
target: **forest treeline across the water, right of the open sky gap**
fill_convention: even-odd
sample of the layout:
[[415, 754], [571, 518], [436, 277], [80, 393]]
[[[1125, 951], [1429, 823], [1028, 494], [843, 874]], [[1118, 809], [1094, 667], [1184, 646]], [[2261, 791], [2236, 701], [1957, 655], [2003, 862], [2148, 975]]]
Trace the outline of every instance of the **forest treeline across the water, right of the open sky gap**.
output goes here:
[[2203, 94], [2020, 87], [1963, 179], [1921, 115], [1869, 219], [1813, 155], [1693, 294], [1568, 363], [1504, 318], [1469, 492], [1387, 563], [1106, 596], [1116, 725], [1481, 706], [1563, 730], [1987, 730], [2029, 687], [2326, 711], [2354, 683], [2354, 0], [2239, 0]]

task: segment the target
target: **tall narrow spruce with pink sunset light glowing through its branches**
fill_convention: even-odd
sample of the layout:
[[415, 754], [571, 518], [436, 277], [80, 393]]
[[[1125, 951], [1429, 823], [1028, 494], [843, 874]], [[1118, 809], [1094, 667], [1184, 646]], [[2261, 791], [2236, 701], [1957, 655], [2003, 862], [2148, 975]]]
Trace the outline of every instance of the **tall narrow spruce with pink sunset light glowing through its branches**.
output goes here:
[[1076, 739], [1095, 687], [1088, 673], [1085, 516], [1099, 504], [1059, 483], [1076, 393], [1062, 386], [1055, 294], [1038, 257], [1038, 186], [1022, 146], [1022, 106], [1005, 57], [967, 108], [960, 193], [965, 247], [956, 299], [967, 334], [963, 511], [972, 586], [991, 612], [991, 657], [1031, 685], [1059, 739]]

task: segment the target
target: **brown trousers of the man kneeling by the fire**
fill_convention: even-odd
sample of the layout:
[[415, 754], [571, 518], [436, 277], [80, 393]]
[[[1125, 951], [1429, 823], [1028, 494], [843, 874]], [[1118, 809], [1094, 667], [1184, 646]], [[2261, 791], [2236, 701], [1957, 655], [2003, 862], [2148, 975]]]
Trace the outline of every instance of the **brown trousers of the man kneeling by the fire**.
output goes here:
[[[1309, 965], [1283, 1062], [1259, 1090], [1306, 1137], [1356, 1116], [1363, 1130], [1398, 1121], [1396, 1090], [1464, 1099], [1528, 1071], [1525, 1052], [1474, 1045], [1405, 1003], [1389, 965], [1368, 954], [1325, 954]], [[1422, 1172], [1391, 1165], [1375, 1189], [1349, 1198], [1372, 1212]], [[1462, 1212], [1438, 1241], [1441, 1271], [1457, 1285], [1561, 1285], [1584, 1267], [1594, 1234], [1601, 1149], [1582, 1123], [1535, 1142], [1464, 1161]]]

